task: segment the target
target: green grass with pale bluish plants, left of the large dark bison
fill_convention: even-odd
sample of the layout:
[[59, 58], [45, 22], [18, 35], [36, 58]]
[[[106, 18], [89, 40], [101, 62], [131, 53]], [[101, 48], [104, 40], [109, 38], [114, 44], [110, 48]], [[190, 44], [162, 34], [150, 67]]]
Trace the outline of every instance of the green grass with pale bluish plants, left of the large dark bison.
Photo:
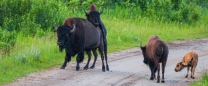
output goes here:
[[56, 47], [55, 34], [44, 37], [25, 37], [20, 33], [10, 55], [0, 58], [0, 85], [31, 72], [60, 65], [64, 53]]

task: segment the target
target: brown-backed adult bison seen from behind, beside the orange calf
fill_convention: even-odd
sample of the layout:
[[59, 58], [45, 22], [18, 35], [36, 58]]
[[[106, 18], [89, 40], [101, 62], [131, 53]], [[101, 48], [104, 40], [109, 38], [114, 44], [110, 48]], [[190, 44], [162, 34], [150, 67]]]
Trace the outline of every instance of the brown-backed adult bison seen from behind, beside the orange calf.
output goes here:
[[143, 62], [146, 65], [149, 65], [151, 70], [150, 80], [155, 78], [155, 72], [158, 70], [157, 75], [157, 83], [160, 82], [160, 64], [162, 63], [162, 80], [161, 82], [164, 83], [164, 73], [165, 73], [165, 65], [168, 58], [168, 46], [165, 42], [163, 42], [158, 36], [151, 36], [146, 46], [142, 47], [142, 54], [144, 56]]

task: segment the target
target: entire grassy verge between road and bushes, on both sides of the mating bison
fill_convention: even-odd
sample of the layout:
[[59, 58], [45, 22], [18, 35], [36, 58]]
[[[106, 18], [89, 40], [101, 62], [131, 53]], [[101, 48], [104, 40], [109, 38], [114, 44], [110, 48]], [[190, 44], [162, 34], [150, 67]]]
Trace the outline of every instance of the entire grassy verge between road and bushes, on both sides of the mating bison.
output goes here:
[[[138, 18], [122, 20], [102, 18], [108, 35], [108, 52], [146, 44], [151, 35], [158, 35], [166, 42], [208, 37], [206, 25], [193, 26], [180, 23], [164, 23]], [[25, 37], [18, 34], [17, 42], [8, 56], [0, 55], [0, 85], [36, 71], [61, 66], [65, 53], [59, 52], [56, 33], [44, 37]]]

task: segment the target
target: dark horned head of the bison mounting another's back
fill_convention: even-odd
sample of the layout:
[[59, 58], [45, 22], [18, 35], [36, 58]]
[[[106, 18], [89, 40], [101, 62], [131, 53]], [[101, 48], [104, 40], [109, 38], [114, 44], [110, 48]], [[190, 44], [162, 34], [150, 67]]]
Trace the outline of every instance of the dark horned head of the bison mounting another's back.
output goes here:
[[85, 14], [86, 14], [87, 20], [90, 21], [94, 26], [98, 27], [100, 24], [100, 15], [102, 14], [102, 12], [103, 12], [103, 9], [100, 12], [91, 11], [88, 13], [85, 11]]

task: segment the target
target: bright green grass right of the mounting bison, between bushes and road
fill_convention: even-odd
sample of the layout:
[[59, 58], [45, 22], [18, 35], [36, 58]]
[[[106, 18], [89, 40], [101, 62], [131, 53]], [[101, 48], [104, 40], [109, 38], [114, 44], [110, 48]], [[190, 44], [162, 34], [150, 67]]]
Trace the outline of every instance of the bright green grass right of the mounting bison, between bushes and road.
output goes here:
[[110, 51], [146, 44], [152, 35], [159, 36], [166, 42], [207, 37], [206, 25], [190, 26], [179, 23], [163, 23], [141, 18], [136, 20], [103, 20], [108, 31]]

